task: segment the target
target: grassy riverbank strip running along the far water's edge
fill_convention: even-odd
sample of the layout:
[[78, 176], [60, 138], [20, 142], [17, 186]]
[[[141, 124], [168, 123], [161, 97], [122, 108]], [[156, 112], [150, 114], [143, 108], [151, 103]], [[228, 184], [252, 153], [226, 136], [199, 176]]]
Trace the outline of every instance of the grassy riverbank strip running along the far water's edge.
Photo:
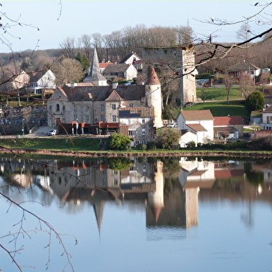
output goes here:
[[[20, 155], [50, 155], [58, 157], [144, 157], [144, 156], [182, 156], [182, 157], [228, 157], [228, 158], [272, 158], [272, 151], [249, 151], [246, 146], [229, 146], [229, 148], [217, 148], [216, 150], [201, 149], [157, 149], [139, 151], [105, 151], [101, 139], [94, 138], [19, 138], [1, 139], [2, 153], [15, 153]], [[239, 143], [237, 143], [239, 144]], [[228, 145], [226, 145], [227, 147]], [[228, 150], [224, 150], [228, 149]]]

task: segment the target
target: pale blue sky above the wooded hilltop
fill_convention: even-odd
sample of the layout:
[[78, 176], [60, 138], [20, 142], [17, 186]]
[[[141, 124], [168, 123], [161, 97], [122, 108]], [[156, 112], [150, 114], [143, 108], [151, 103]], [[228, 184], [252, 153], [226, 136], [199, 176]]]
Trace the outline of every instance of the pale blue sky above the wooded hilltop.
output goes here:
[[[0, 31], [0, 38], [8, 39], [12, 51], [58, 49], [66, 37], [105, 35], [137, 24], [147, 27], [189, 24], [198, 37], [212, 34], [216, 35], [214, 42], [237, 42], [241, 25], [212, 26], [201, 21], [218, 18], [236, 22], [260, 10], [254, 6], [256, 0], [1, 0], [0, 3], [3, 25], [8, 22], [5, 15], [28, 25], [11, 26], [9, 21], [8, 32]], [[256, 26], [255, 22], [250, 22], [250, 26], [254, 33], [268, 28]], [[10, 48], [0, 43], [0, 53], [6, 52]]]

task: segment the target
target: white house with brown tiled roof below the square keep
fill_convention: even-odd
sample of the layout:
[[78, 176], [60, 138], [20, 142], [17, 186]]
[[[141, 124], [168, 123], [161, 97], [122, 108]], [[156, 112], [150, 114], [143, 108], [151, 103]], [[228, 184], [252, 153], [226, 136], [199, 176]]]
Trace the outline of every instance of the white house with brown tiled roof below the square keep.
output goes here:
[[[206, 143], [214, 139], [214, 117], [210, 110], [182, 110], [178, 114], [178, 128], [182, 130], [180, 144]], [[188, 134], [185, 132], [190, 132]]]

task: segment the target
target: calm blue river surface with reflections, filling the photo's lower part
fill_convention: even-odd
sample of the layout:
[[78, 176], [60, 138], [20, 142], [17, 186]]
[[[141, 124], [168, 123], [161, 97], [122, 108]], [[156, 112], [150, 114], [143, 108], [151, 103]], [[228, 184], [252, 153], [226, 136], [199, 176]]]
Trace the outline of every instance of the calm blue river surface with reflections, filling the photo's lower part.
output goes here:
[[[272, 271], [271, 160], [40, 162], [1, 158], [1, 193], [50, 223], [74, 271]], [[24, 271], [72, 271], [55, 233], [0, 201], [1, 246], [22, 248]]]

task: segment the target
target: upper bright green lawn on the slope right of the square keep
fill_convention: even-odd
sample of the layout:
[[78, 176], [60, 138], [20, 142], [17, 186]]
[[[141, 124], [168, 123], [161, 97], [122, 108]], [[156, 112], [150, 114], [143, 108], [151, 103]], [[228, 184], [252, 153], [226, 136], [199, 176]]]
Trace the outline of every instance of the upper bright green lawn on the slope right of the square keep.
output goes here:
[[[226, 87], [200, 87], [196, 88], [196, 96], [203, 100], [203, 95], [205, 95], [205, 101], [207, 100], [227, 100]], [[232, 87], [230, 92], [230, 99], [242, 99], [241, 88]]]

